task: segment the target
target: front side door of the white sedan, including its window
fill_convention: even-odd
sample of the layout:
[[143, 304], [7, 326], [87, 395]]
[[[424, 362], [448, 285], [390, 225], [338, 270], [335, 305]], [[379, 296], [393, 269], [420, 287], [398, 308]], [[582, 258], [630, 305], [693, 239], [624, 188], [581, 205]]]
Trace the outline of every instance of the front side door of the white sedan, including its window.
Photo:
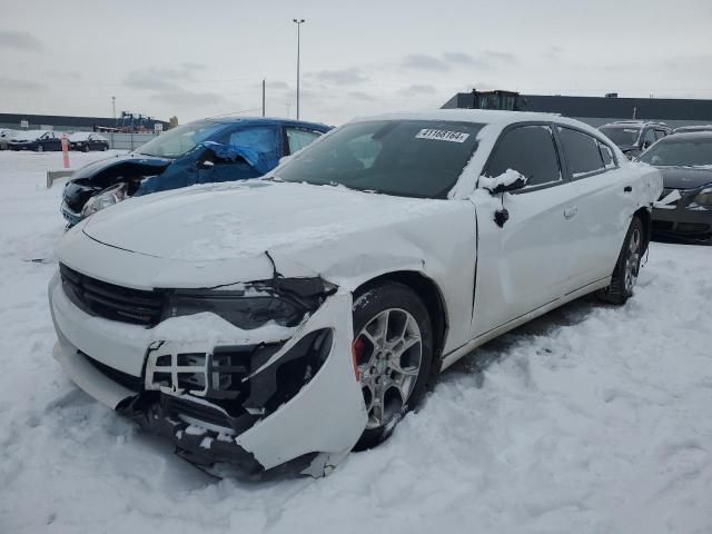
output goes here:
[[[570, 276], [574, 184], [562, 172], [551, 126], [506, 129], [483, 175], [496, 177], [507, 169], [526, 176], [526, 187], [504, 198], [483, 189], [473, 197], [478, 228], [473, 337], [556, 300]], [[500, 227], [494, 212], [503, 205], [510, 218]]]

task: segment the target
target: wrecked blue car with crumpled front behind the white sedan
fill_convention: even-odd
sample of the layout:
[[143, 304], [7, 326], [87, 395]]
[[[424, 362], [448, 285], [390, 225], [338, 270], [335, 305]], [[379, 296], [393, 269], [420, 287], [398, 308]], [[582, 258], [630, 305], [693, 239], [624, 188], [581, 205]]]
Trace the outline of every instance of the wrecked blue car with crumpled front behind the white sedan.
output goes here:
[[61, 212], [69, 226], [125, 198], [196, 184], [257, 178], [332, 127], [268, 118], [212, 118], [174, 128], [125, 156], [73, 172]]

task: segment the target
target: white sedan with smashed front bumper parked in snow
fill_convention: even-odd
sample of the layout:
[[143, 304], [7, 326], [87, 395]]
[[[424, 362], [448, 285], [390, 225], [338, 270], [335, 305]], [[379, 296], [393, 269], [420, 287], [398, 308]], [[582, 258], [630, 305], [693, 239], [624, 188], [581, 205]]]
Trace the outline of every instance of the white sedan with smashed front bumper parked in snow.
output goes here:
[[662, 178], [550, 115], [349, 122], [243, 184], [63, 237], [55, 357], [191, 462], [322, 475], [428, 380], [582, 295], [632, 295]]

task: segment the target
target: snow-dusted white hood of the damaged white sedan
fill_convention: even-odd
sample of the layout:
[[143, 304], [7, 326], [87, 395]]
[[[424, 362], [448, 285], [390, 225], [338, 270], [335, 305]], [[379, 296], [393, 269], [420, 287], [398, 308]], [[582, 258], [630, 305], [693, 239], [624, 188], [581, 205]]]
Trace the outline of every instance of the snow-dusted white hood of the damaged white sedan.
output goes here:
[[[115, 249], [160, 258], [161, 269], [190, 264], [202, 269], [197, 278], [206, 284], [269, 278], [273, 259], [284, 276], [348, 277], [385, 268], [384, 261], [393, 267], [409, 258], [422, 265], [424, 254], [415, 241], [427, 225], [433, 231], [433, 218], [445, 220], [459, 204], [248, 180], [135, 197], [95, 214], [81, 228]], [[367, 261], [368, 254], [380, 259]], [[139, 278], [146, 279], [146, 273], [136, 273]], [[179, 287], [180, 280], [154, 277], [139, 285], [159, 284]]]

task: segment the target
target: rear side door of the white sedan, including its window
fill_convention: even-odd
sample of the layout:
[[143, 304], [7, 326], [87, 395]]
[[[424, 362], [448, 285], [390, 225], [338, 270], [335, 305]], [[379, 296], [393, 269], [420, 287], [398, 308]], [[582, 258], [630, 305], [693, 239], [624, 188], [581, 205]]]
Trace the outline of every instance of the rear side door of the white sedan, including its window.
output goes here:
[[577, 244], [572, 251], [571, 293], [613, 274], [635, 199], [607, 142], [568, 126], [557, 126], [556, 135], [575, 191], [571, 222]]

